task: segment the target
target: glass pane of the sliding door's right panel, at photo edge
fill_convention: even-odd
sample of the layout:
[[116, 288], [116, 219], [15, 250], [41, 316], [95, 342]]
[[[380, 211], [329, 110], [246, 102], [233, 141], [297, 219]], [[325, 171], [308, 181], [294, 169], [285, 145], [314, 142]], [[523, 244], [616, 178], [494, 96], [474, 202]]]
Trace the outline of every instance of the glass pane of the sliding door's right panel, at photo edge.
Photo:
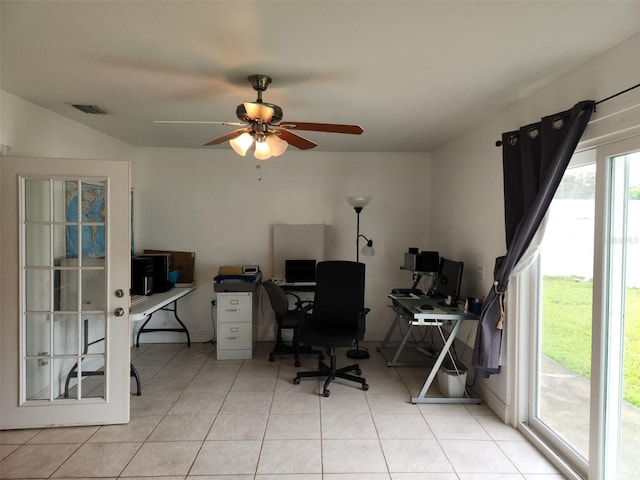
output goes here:
[[640, 153], [611, 159], [606, 471], [640, 469]]

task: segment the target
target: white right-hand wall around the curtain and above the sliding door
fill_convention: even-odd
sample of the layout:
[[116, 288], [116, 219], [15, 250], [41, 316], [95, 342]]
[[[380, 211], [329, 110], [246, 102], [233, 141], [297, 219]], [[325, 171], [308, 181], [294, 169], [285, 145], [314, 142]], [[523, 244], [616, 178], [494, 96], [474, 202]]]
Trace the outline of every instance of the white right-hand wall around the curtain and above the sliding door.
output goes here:
[[[432, 230], [435, 248], [446, 245], [453, 255], [465, 262], [463, 294], [484, 296], [491, 286], [493, 263], [504, 255], [504, 210], [502, 186], [502, 151], [495, 146], [501, 134], [539, 121], [542, 116], [571, 108], [580, 100], [601, 100], [636, 85], [640, 79], [640, 35], [636, 35], [575, 71], [557, 79], [529, 97], [505, 108], [477, 128], [433, 152], [432, 197], [433, 224], [444, 226]], [[603, 107], [606, 104], [603, 104]], [[598, 118], [599, 108], [592, 120]], [[589, 136], [589, 129], [585, 137]], [[447, 199], [446, 208], [442, 205]], [[469, 241], [472, 238], [472, 241]], [[484, 266], [485, 278], [479, 279], [475, 267]], [[508, 329], [509, 317], [507, 317]], [[464, 333], [463, 333], [464, 335]], [[505, 330], [503, 354], [507, 351]], [[475, 334], [472, 338], [475, 337]], [[480, 389], [489, 405], [503, 418], [511, 403], [512, 385], [509, 366]]]

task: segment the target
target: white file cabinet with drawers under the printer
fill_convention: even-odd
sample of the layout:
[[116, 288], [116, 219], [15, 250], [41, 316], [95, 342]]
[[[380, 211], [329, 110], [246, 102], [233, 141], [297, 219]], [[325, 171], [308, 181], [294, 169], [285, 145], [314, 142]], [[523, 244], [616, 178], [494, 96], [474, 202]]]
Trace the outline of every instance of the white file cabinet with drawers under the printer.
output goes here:
[[258, 333], [257, 310], [255, 293], [218, 293], [218, 360], [249, 359], [253, 356]]

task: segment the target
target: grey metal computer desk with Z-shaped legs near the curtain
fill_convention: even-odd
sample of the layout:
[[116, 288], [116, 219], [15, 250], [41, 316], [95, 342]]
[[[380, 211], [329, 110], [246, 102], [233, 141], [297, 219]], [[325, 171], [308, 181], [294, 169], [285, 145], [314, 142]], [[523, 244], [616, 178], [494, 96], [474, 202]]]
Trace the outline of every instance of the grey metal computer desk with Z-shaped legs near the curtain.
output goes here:
[[[433, 383], [436, 374], [438, 373], [438, 369], [447, 356], [451, 345], [453, 345], [456, 335], [462, 326], [462, 322], [465, 320], [479, 320], [480, 317], [473, 313], [465, 313], [459, 307], [452, 308], [441, 306], [437, 300], [431, 298], [402, 298], [391, 294], [389, 295], [389, 298], [392, 300], [390, 308], [395, 311], [396, 316], [385, 339], [377, 348], [377, 350], [385, 357], [388, 367], [428, 365], [426, 361], [416, 362], [415, 360], [401, 359], [402, 355], [407, 353], [407, 341], [412, 335], [413, 330], [417, 327], [436, 327], [440, 333], [440, 337], [444, 341], [444, 346], [431, 366], [429, 375], [427, 376], [420, 393], [416, 397], [411, 397], [411, 403], [482, 403], [482, 400], [475, 396], [460, 398], [427, 397], [427, 391]], [[421, 310], [420, 305], [423, 304], [431, 305], [433, 310]], [[389, 346], [391, 335], [396, 328], [399, 327], [400, 321], [406, 321], [409, 328], [403, 335], [400, 345], [397, 347]], [[442, 328], [443, 326], [452, 327], [448, 337], [445, 335], [445, 331]], [[427, 360], [427, 357], [422, 358]], [[468, 390], [469, 388], [467, 387], [467, 391]]]

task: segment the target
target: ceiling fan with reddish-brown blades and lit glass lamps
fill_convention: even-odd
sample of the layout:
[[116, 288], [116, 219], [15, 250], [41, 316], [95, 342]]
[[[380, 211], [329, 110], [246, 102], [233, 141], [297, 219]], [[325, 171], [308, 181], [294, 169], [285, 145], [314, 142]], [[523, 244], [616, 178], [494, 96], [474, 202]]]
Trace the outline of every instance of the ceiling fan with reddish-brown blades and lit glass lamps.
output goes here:
[[[315, 132], [348, 133], [360, 135], [364, 130], [359, 125], [341, 125], [336, 123], [282, 122], [282, 109], [278, 105], [262, 101], [264, 92], [271, 83], [267, 75], [250, 75], [251, 86], [258, 92], [255, 102], [243, 102], [236, 108], [240, 122], [220, 122], [227, 126], [242, 127], [218, 137], [203, 146], [218, 145], [229, 140], [231, 147], [239, 155], [245, 156], [255, 144], [255, 157], [266, 160], [279, 156], [289, 144], [301, 150], [317, 147], [317, 144], [291, 130]], [[213, 123], [213, 122], [212, 122]], [[218, 122], [216, 122], [218, 123]]]

